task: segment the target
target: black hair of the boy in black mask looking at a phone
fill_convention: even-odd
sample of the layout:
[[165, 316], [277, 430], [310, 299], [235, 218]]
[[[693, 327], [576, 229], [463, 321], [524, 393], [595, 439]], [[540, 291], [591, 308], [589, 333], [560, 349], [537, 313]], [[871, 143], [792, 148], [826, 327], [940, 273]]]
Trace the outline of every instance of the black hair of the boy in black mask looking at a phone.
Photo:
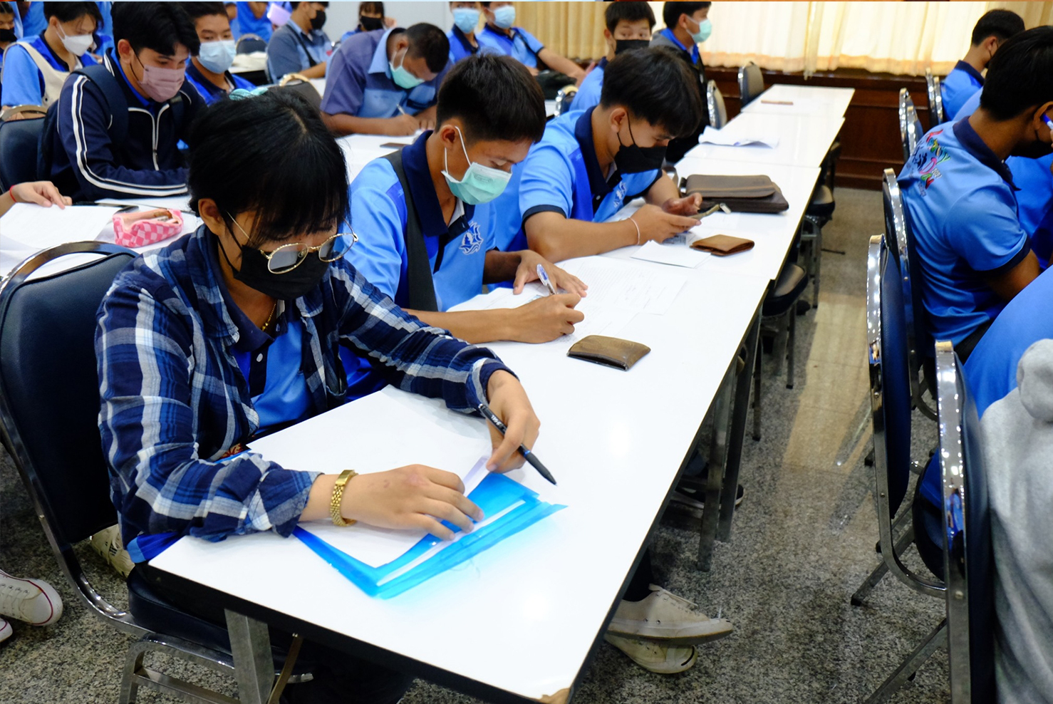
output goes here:
[[599, 102], [604, 109], [620, 105], [674, 137], [693, 133], [702, 119], [698, 76], [675, 51], [660, 46], [614, 57]]

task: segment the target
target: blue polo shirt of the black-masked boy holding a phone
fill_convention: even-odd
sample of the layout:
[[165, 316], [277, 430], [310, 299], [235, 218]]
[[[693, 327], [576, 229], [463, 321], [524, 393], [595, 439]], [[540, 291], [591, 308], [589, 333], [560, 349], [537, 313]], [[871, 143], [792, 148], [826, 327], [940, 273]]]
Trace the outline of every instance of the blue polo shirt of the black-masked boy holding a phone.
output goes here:
[[593, 145], [593, 110], [572, 110], [550, 120], [541, 141], [513, 169], [512, 180], [493, 208], [495, 241], [502, 252], [529, 249], [522, 223], [531, 215], [551, 211], [603, 222], [661, 176], [657, 169], [603, 174]]

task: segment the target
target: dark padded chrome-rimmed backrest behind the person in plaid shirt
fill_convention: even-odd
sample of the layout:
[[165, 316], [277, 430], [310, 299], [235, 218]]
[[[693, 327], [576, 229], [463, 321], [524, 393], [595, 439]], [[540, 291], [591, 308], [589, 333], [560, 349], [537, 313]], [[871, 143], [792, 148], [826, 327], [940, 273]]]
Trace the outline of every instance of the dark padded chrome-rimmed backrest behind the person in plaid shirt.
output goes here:
[[[31, 278], [77, 253], [96, 256]], [[96, 311], [134, 257], [114, 245], [62, 245], [26, 260], [0, 286], [0, 439], [74, 587], [92, 608], [139, 632], [95, 592], [72, 547], [117, 522], [98, 427]]]

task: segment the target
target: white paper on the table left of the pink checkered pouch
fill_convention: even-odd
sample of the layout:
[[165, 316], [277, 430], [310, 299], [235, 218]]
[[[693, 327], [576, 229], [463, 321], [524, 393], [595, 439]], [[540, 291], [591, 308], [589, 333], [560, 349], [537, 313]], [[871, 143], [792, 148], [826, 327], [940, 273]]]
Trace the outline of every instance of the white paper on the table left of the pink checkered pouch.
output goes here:
[[107, 224], [113, 223], [118, 210], [102, 206], [43, 208], [15, 203], [0, 219], [0, 240], [3, 240], [0, 247], [40, 251], [66, 242], [94, 241]]

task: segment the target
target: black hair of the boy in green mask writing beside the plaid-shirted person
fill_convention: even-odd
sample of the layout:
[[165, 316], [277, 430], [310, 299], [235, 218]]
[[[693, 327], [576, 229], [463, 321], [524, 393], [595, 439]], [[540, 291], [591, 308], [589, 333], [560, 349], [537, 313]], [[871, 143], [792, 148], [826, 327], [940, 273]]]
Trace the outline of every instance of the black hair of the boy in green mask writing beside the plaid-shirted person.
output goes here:
[[476, 54], [454, 64], [439, 89], [435, 123], [452, 117], [464, 124], [465, 143], [537, 142], [544, 134], [544, 94], [519, 61]]

